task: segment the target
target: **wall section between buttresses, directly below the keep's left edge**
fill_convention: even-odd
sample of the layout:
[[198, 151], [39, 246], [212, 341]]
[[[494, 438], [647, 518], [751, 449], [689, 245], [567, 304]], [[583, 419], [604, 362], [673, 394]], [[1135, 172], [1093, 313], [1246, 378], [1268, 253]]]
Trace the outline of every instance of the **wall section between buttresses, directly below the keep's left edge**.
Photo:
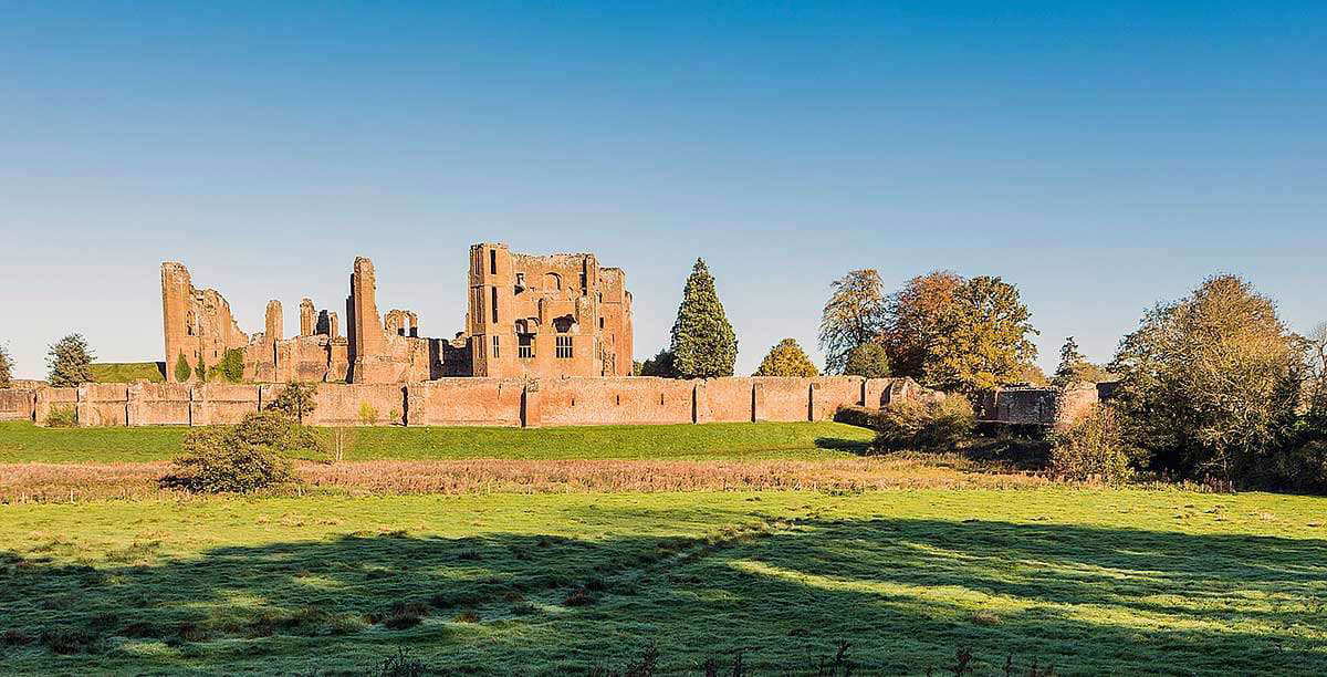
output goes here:
[[522, 425], [524, 384], [506, 378], [441, 378], [406, 386], [413, 426]]

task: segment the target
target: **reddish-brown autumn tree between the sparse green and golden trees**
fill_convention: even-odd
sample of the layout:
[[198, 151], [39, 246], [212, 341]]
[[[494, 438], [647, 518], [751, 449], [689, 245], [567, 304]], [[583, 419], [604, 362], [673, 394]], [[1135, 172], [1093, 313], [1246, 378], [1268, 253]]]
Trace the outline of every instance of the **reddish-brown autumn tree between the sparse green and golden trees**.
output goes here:
[[934, 271], [908, 280], [889, 295], [881, 342], [894, 376], [925, 381], [930, 365], [938, 361], [936, 342], [942, 323], [963, 279], [950, 271]]

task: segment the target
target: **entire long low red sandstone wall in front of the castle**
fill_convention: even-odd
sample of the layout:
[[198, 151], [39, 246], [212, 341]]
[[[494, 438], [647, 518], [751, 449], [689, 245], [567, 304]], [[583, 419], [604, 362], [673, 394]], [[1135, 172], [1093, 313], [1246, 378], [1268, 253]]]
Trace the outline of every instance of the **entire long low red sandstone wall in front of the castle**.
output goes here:
[[[361, 405], [377, 425], [649, 425], [686, 422], [828, 421], [844, 405], [867, 406], [910, 396], [908, 380], [820, 378], [442, 378], [399, 384], [316, 384], [312, 425], [361, 425]], [[90, 384], [44, 388], [33, 404], [37, 422], [53, 406], [74, 408], [80, 425], [235, 423], [272, 402], [284, 385]], [[527, 390], [528, 388], [528, 390]], [[752, 414], [752, 398], [755, 412]], [[8, 405], [0, 405], [0, 408]], [[27, 410], [20, 402], [0, 409]]]

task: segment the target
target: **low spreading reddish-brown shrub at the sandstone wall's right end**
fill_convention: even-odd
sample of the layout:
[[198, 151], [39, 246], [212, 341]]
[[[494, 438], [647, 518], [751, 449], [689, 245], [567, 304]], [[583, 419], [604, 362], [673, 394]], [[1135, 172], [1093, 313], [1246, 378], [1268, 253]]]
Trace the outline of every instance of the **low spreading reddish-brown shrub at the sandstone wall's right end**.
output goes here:
[[900, 400], [881, 409], [876, 417], [874, 446], [878, 450], [953, 449], [971, 435], [975, 426], [973, 405], [962, 396]]

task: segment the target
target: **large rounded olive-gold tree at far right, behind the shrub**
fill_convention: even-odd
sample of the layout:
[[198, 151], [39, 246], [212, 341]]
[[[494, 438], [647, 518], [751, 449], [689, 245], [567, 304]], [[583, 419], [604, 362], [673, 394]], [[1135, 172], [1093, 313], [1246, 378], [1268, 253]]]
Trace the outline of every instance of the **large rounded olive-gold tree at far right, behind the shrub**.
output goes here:
[[1111, 365], [1120, 376], [1113, 402], [1154, 465], [1245, 481], [1299, 404], [1303, 354], [1270, 299], [1218, 275], [1152, 308], [1124, 337]]

